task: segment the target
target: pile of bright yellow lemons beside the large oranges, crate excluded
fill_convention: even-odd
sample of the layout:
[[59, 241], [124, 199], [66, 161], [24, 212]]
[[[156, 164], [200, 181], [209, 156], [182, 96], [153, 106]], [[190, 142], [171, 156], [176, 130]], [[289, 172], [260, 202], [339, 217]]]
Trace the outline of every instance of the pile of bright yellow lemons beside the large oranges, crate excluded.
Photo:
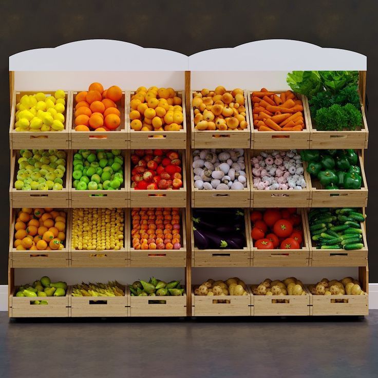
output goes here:
[[57, 90], [54, 96], [45, 93], [24, 94], [16, 104], [16, 131], [62, 131], [65, 110], [64, 90]]

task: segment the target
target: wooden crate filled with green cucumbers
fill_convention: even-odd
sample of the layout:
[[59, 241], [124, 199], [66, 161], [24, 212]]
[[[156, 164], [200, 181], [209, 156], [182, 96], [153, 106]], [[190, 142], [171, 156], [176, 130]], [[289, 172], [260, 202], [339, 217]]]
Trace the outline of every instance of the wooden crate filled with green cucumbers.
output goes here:
[[310, 209], [306, 214], [313, 267], [367, 266], [365, 214], [354, 207]]

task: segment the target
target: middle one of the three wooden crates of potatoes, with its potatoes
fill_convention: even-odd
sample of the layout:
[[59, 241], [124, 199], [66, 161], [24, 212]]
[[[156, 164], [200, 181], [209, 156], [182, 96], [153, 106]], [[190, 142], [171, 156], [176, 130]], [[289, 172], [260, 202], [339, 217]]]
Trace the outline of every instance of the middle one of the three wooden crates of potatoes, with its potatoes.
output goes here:
[[311, 294], [295, 277], [283, 281], [267, 278], [252, 285], [251, 291], [255, 316], [310, 315]]

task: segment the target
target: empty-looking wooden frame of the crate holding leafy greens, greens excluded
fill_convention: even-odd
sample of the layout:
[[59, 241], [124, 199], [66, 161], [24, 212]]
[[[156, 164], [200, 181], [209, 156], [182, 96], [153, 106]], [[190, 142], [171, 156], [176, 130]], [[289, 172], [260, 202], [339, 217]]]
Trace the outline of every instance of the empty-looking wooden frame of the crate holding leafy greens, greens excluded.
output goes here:
[[[361, 98], [360, 98], [361, 101]], [[319, 131], [311, 119], [310, 106], [307, 102], [307, 118], [310, 128], [310, 148], [368, 148], [369, 129], [366, 122], [365, 107], [361, 101], [362, 126], [354, 131]]]

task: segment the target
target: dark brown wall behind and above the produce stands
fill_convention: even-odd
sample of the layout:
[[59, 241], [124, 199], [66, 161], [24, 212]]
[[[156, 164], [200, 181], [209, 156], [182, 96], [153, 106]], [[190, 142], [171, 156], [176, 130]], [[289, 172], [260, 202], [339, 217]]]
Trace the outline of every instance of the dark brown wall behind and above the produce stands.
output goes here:
[[[378, 282], [378, 189], [374, 148], [378, 127], [372, 115], [378, 101], [378, 53], [374, 0], [308, 1], [115, 1], [65, 0], [61, 2], [0, 2], [0, 284], [7, 281], [9, 87], [8, 56], [23, 50], [55, 47], [85, 39], [114, 39], [144, 47], [171, 49], [190, 55], [264, 39], [292, 39], [322, 47], [342, 48], [368, 57], [367, 93], [369, 152], [366, 174], [369, 184], [367, 210], [370, 282]], [[288, 51], [295, 54], [296, 51]], [[74, 57], [72, 57], [74, 59]], [[111, 59], [111, 57], [109, 57]], [[258, 56], [256, 56], [258, 59]], [[279, 58], [277, 58], [279, 59]], [[152, 62], [153, 64], [153, 62]]]

